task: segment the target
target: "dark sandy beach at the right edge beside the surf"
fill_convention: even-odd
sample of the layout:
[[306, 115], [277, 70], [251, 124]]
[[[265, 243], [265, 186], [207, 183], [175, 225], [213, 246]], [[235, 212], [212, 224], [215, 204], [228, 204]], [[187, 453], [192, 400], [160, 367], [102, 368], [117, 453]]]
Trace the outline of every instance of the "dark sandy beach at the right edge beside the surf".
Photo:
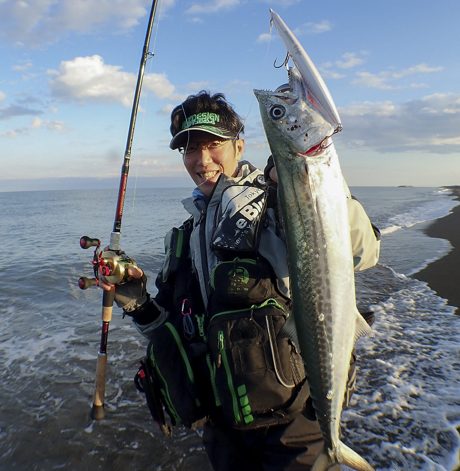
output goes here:
[[[449, 188], [451, 195], [460, 201], [460, 186], [444, 188]], [[411, 278], [426, 282], [438, 296], [447, 300], [449, 306], [457, 308], [455, 314], [460, 315], [460, 205], [447, 216], [435, 219], [423, 232], [429, 237], [448, 240], [452, 250], [412, 274]]]

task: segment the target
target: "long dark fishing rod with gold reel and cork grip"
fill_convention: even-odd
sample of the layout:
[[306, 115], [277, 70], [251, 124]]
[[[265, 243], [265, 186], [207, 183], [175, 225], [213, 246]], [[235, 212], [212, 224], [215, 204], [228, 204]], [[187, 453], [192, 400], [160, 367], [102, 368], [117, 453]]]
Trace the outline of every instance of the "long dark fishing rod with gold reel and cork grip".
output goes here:
[[[158, 0], [153, 0], [148, 19], [147, 33], [145, 35], [144, 48], [142, 49], [142, 57], [140, 59], [139, 73], [137, 76], [136, 91], [132, 103], [131, 120], [128, 130], [128, 138], [126, 141], [126, 149], [124, 151], [124, 159], [120, 177], [120, 186], [118, 189], [118, 198], [116, 202], [114, 227], [110, 234], [110, 243], [108, 252], [100, 252], [100, 240], [93, 239], [84, 235], [80, 239], [82, 249], [96, 247], [92, 265], [94, 269], [94, 278], [80, 277], [78, 286], [85, 290], [90, 286], [99, 285], [99, 272], [102, 273], [109, 283], [120, 284], [128, 279], [128, 267], [137, 267], [136, 262], [128, 257], [120, 250], [121, 227], [124, 196], [126, 193], [126, 182], [128, 180], [129, 162], [131, 159], [132, 138], [134, 135], [134, 127], [136, 125], [136, 115], [139, 106], [140, 89], [142, 87], [142, 79], [144, 78], [145, 65], [148, 56], [153, 57], [153, 53], [148, 52], [150, 44], [150, 36], [152, 34], [153, 21], [155, 18], [156, 4]], [[92, 419], [100, 420], [105, 416], [104, 396], [106, 391], [107, 376], [107, 336], [108, 325], [112, 320], [112, 309], [115, 300], [115, 290], [104, 291], [102, 294], [102, 329], [101, 340], [98, 352], [98, 360], [96, 364], [96, 378], [94, 381], [93, 406], [90, 416]]]

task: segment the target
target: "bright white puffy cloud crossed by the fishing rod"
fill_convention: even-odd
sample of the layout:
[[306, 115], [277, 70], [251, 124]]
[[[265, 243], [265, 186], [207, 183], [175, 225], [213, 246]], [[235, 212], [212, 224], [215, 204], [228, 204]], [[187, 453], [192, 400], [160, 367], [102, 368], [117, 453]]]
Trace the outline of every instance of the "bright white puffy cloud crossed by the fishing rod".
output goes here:
[[[54, 97], [102, 103], [121, 103], [131, 107], [137, 76], [123, 72], [120, 65], [104, 64], [100, 56], [75, 57], [63, 61], [58, 71], [48, 71], [54, 75], [49, 88]], [[160, 99], [180, 99], [175, 87], [166, 75], [149, 73], [144, 75], [143, 88], [152, 90]]]

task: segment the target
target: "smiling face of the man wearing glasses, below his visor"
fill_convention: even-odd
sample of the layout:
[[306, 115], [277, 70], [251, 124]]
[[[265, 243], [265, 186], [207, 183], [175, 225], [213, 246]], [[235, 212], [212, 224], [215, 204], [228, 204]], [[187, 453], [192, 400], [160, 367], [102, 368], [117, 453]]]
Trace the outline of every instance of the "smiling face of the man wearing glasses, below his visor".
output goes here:
[[[196, 151], [184, 154], [183, 159], [185, 168], [197, 187], [209, 196], [221, 173], [229, 177], [238, 175], [238, 162], [243, 154], [244, 139], [236, 139], [236, 142], [232, 139], [223, 146], [209, 149], [201, 142], [207, 138], [216, 136], [205, 131], [190, 131], [189, 143], [194, 146], [198, 143], [198, 146]], [[183, 143], [184, 147], [186, 145], [187, 140]]]

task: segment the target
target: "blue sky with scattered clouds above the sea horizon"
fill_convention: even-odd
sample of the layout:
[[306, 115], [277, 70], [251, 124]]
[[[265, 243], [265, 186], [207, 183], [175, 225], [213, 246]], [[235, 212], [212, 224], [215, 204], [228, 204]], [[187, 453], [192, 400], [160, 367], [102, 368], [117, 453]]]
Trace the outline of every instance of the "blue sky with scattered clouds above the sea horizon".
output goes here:
[[[0, 0], [0, 191], [117, 187], [149, 0]], [[460, 2], [158, 0], [128, 187], [192, 185], [173, 106], [223, 92], [270, 154], [253, 89], [287, 82], [273, 8], [325, 80], [349, 186], [460, 184]]]

